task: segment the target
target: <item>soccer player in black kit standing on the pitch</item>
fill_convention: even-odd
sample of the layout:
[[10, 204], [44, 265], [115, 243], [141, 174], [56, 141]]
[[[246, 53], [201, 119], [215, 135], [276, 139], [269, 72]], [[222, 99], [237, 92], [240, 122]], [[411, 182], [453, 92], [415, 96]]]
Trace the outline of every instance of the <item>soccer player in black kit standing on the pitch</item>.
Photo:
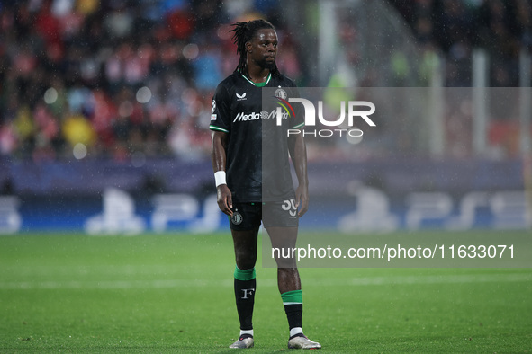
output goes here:
[[[309, 193], [302, 134], [286, 135], [287, 128], [302, 128], [303, 117], [283, 119], [283, 127], [276, 127], [272, 126], [276, 119], [269, 115], [273, 110], [263, 107], [263, 87], [277, 88], [276, 95], [283, 99], [296, 93], [293, 81], [275, 65], [275, 28], [265, 20], [234, 26], [231, 31], [240, 55], [239, 66], [218, 85], [212, 99], [212, 168], [218, 206], [230, 218], [237, 263], [234, 290], [240, 333], [230, 348], [251, 348], [259, 226], [262, 222], [274, 247], [294, 247], [298, 217], [307, 211]], [[265, 125], [266, 121], [269, 124]], [[296, 190], [288, 152], [299, 182]], [[288, 348], [321, 348], [302, 332], [302, 289], [295, 261], [275, 261], [290, 329]]]

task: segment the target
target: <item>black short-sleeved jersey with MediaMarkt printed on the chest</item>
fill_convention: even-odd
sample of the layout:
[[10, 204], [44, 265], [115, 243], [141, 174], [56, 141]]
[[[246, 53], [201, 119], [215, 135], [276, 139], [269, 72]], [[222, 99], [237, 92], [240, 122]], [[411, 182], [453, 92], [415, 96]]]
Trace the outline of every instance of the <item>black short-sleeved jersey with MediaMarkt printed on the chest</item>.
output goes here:
[[233, 200], [239, 202], [294, 198], [287, 129], [301, 128], [304, 119], [302, 114], [285, 116], [278, 127], [279, 105], [273, 94], [271, 102], [263, 104], [261, 86], [268, 92], [277, 88], [285, 100], [298, 95], [293, 81], [284, 75], [270, 74], [266, 83], [254, 84], [235, 71], [218, 85], [212, 99], [209, 128], [228, 134], [227, 184]]

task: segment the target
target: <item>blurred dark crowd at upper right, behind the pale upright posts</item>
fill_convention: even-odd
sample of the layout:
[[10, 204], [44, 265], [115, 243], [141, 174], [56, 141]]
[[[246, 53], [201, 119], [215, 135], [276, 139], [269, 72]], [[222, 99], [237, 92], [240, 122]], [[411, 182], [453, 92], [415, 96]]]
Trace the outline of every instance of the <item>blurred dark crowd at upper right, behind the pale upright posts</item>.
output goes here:
[[[521, 53], [527, 53], [528, 66], [531, 65], [532, 0], [390, 1], [409, 23], [419, 47], [437, 49], [443, 54], [446, 86], [474, 85], [474, 49], [483, 49], [487, 54], [487, 86], [532, 85], [532, 82], [523, 82], [526, 76], [520, 72]], [[508, 99], [499, 100], [497, 93], [500, 91], [491, 93], [495, 97], [492, 97], [488, 109], [488, 147], [483, 155], [496, 159], [516, 157], [520, 151], [518, 111], [505, 105], [508, 103], [502, 103], [508, 102]], [[513, 107], [518, 107], [517, 102]], [[504, 112], [501, 114], [501, 111]], [[446, 155], [471, 156], [472, 111], [449, 109], [445, 128]]]

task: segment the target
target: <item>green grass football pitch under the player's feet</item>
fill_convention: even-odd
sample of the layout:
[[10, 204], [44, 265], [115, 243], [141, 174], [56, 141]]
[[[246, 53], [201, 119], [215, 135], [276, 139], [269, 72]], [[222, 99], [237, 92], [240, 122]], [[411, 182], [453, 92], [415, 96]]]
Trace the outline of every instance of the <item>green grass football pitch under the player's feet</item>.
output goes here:
[[[0, 352], [232, 352], [229, 233], [0, 237]], [[304, 268], [303, 328], [327, 352], [530, 352], [532, 270]], [[286, 349], [257, 265], [252, 352]]]

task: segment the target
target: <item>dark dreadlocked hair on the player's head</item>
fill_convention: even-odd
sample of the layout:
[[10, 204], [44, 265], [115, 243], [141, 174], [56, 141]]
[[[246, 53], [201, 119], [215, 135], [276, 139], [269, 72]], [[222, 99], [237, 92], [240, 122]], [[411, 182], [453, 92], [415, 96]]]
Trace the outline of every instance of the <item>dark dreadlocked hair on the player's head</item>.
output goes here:
[[[239, 66], [236, 70], [243, 75], [248, 75], [248, 60], [246, 58], [246, 43], [249, 40], [252, 40], [253, 37], [257, 34], [258, 30], [271, 29], [275, 30], [275, 27], [272, 23], [267, 22], [266, 20], [258, 19], [249, 22], [237, 22], [233, 23], [233, 28], [231, 32], [233, 34], [232, 40], [237, 45], [237, 53], [240, 55]], [[270, 70], [272, 75], [280, 75], [279, 69], [275, 65], [273, 69]]]

